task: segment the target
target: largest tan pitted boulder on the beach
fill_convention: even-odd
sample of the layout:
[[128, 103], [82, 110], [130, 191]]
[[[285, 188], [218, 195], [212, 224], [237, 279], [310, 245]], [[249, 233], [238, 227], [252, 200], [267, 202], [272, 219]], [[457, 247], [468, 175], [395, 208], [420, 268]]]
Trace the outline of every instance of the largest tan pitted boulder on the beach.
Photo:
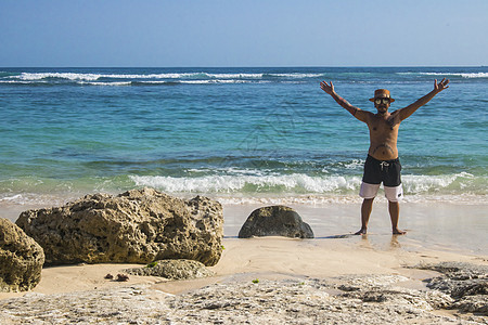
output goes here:
[[153, 188], [87, 195], [63, 207], [22, 212], [16, 223], [42, 246], [49, 264], [191, 259], [214, 265], [222, 252], [218, 202], [183, 200]]

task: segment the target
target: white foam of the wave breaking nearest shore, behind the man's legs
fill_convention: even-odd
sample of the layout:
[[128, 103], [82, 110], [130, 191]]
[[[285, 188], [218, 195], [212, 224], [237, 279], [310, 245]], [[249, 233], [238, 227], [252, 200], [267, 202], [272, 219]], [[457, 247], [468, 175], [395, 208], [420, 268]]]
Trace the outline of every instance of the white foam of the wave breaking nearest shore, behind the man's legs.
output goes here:
[[[303, 173], [227, 174], [196, 178], [130, 176], [130, 179], [137, 186], [152, 186], [171, 193], [341, 194], [357, 192], [361, 184], [361, 177], [359, 176], [311, 177]], [[477, 193], [483, 192], [483, 188], [476, 188], [476, 181], [477, 178], [465, 172], [449, 176], [407, 174], [402, 177], [404, 192], [412, 195], [449, 194], [460, 188]]]

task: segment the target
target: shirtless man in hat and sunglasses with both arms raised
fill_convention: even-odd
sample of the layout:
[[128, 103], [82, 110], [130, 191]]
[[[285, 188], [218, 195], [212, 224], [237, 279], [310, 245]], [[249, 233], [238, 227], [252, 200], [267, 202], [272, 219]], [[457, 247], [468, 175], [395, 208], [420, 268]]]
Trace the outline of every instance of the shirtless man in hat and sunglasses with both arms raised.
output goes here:
[[410, 104], [404, 108], [397, 109], [393, 113], [388, 112], [389, 105], [395, 102], [390, 98], [389, 91], [386, 89], [377, 89], [374, 98], [370, 99], [374, 102], [377, 113], [362, 110], [352, 106], [346, 100], [337, 95], [332, 81], [330, 84], [325, 81], [320, 82], [320, 88], [330, 94], [341, 106], [346, 108], [354, 117], [363, 121], [370, 129], [370, 150], [368, 158], [364, 162], [364, 174], [362, 178], [359, 195], [363, 197], [361, 206], [361, 229], [356, 235], [367, 234], [368, 221], [370, 220], [373, 200], [376, 196], [380, 184], [383, 183], [385, 196], [388, 199], [388, 211], [391, 219], [393, 233], [396, 235], [406, 234], [404, 231], [398, 229], [399, 219], [399, 200], [402, 198], [403, 192], [400, 180], [400, 161], [398, 159], [397, 138], [400, 122], [412, 115], [419, 107], [428, 103], [436, 94], [449, 88], [447, 86], [449, 79], [442, 79], [437, 83], [434, 81], [434, 90]]

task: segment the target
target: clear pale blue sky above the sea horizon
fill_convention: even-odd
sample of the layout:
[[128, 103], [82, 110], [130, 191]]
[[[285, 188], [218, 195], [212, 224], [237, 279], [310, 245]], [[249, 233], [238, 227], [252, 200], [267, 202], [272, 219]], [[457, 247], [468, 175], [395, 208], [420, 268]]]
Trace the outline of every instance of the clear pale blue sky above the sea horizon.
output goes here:
[[0, 66], [476, 66], [487, 30], [487, 0], [0, 0]]

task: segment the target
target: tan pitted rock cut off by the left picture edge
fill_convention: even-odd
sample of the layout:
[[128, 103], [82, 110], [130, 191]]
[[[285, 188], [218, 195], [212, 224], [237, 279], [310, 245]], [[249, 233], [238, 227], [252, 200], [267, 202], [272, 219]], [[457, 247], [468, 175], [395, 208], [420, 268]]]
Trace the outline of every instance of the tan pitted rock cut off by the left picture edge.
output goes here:
[[0, 291], [26, 291], [41, 278], [42, 248], [8, 219], [0, 219]]

